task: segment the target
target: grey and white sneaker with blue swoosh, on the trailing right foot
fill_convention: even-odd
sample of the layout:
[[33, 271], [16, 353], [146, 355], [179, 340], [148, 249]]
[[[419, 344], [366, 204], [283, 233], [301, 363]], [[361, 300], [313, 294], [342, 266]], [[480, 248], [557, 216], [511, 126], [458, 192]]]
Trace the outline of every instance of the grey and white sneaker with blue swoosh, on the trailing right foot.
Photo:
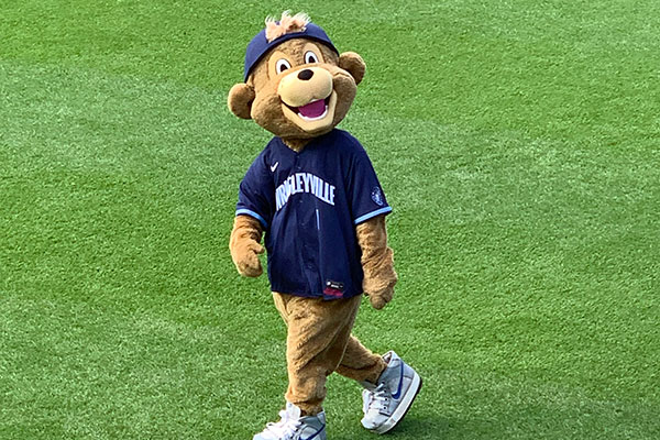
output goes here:
[[376, 384], [361, 382], [362, 426], [372, 432], [385, 433], [406, 416], [421, 388], [421, 377], [395, 352], [383, 355], [387, 367], [381, 373]]

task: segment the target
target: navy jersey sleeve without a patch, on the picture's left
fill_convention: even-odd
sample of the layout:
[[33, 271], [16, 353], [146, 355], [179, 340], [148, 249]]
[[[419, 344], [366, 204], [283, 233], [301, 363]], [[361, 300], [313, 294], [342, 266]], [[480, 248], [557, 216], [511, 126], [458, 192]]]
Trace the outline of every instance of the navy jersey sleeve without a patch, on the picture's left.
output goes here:
[[268, 229], [273, 218], [275, 190], [271, 174], [267, 172], [264, 155], [258, 155], [239, 186], [237, 216], [246, 215], [255, 218]]

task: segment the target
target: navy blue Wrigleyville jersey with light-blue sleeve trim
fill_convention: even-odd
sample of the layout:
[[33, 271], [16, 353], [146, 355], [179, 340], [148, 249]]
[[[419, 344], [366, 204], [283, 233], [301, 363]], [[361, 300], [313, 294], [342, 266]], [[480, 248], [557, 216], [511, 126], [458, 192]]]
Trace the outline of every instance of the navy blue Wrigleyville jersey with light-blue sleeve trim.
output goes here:
[[248, 169], [238, 215], [265, 231], [274, 292], [326, 299], [362, 294], [355, 226], [392, 211], [366, 152], [342, 130], [296, 153], [273, 138]]

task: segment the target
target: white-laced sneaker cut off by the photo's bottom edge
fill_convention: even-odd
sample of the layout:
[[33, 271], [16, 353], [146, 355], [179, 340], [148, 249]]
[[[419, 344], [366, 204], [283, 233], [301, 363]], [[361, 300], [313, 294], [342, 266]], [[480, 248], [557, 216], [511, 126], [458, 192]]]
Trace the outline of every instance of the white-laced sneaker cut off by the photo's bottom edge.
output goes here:
[[300, 408], [287, 402], [279, 417], [278, 422], [267, 424], [252, 440], [326, 440], [326, 413], [300, 417]]

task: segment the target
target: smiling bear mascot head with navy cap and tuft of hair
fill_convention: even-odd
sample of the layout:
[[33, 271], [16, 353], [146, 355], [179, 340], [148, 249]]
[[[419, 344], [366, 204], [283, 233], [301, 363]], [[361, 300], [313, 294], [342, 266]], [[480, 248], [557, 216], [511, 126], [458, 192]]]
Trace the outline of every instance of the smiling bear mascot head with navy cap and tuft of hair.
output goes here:
[[289, 145], [304, 144], [346, 116], [364, 70], [360, 55], [339, 54], [309, 16], [284, 12], [266, 19], [248, 45], [244, 82], [230, 90], [229, 109]]

